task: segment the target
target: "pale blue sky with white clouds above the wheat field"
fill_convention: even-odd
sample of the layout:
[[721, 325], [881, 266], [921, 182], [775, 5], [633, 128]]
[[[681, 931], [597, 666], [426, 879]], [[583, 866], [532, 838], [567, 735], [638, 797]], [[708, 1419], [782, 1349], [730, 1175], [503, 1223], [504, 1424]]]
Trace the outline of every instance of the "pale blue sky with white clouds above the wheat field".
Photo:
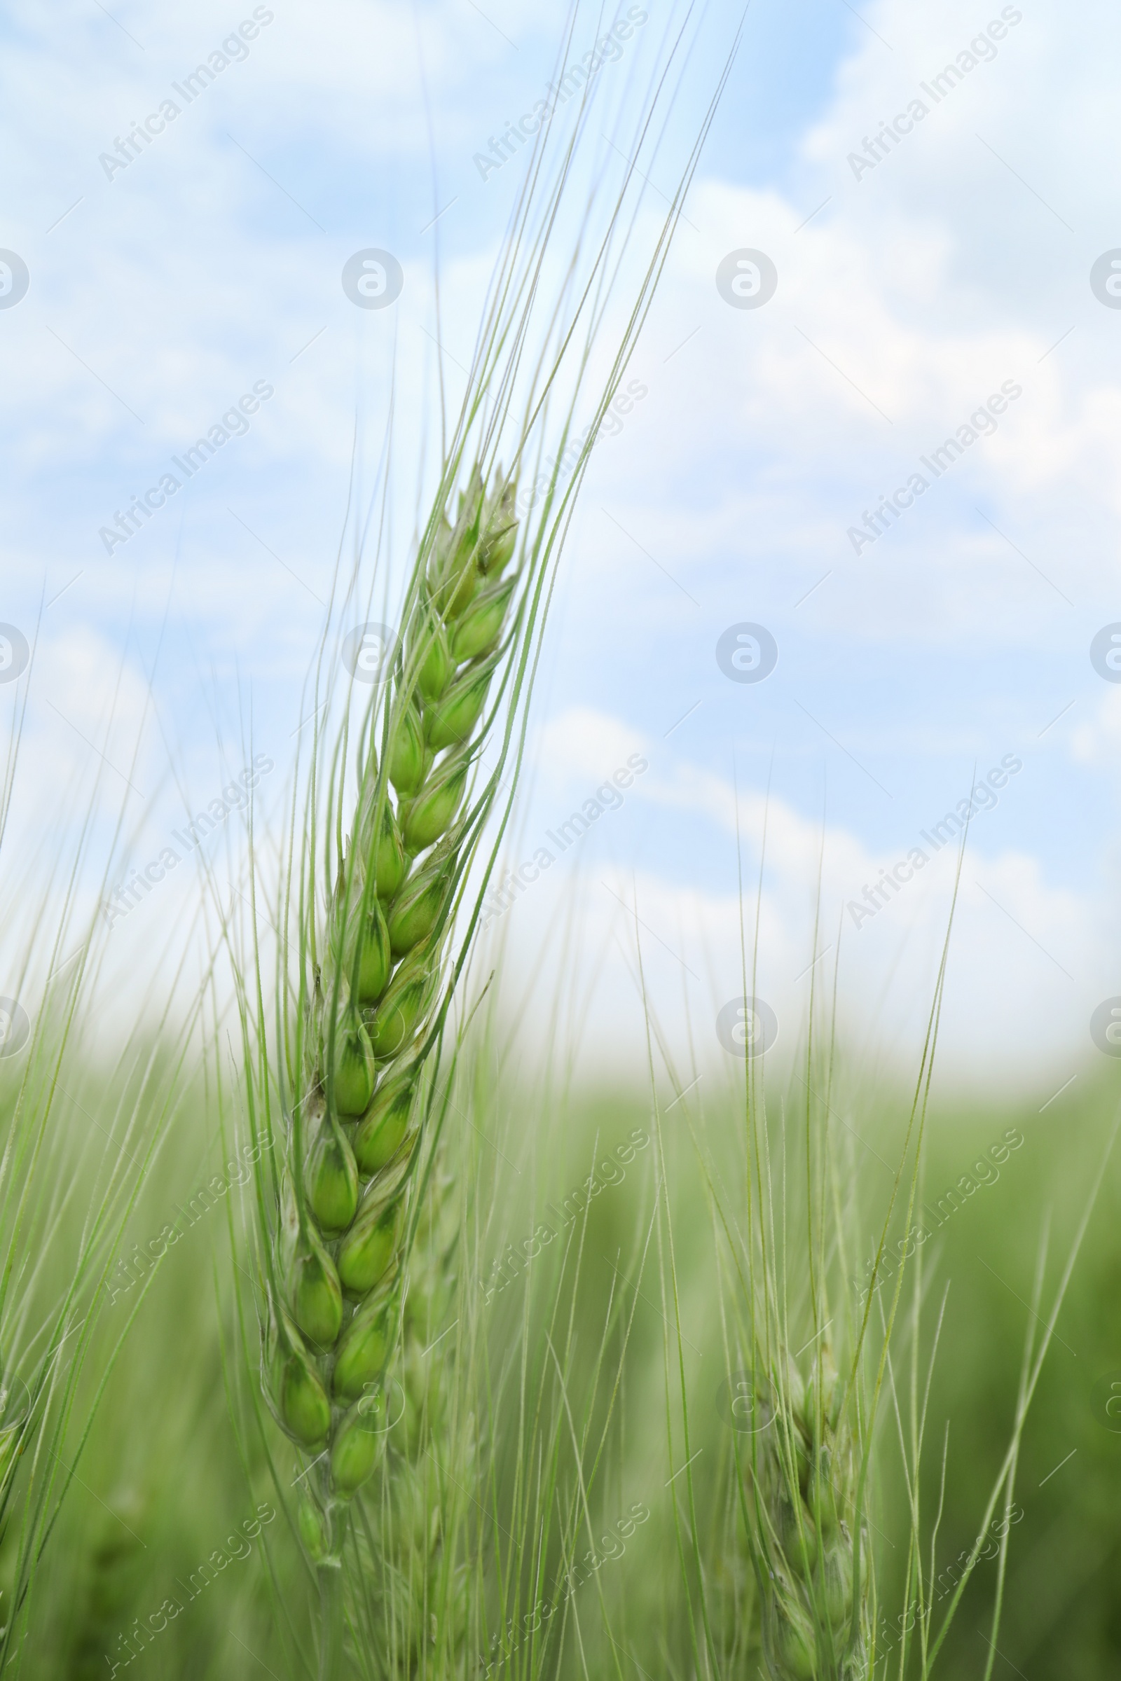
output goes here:
[[[7, 8], [0, 624], [35, 644], [30, 691], [0, 684], [5, 719], [27, 693], [8, 967], [25, 861], [94, 785], [156, 856], [244, 767], [252, 718], [262, 820], [282, 820], [348, 491], [370, 498], [393, 402], [403, 573], [437, 355], [454, 392], [523, 182], [523, 155], [477, 160], [541, 97], [566, 22], [578, 57], [629, 12], [597, 145], [682, 7]], [[736, 22], [692, 13], [666, 141], [639, 160], [640, 237]], [[945, 819], [968, 810], [946, 1078], [1059, 1118], [1064, 1083], [1101, 1072], [1091, 1017], [1121, 993], [1119, 34], [1097, 0], [1077, 18], [753, 0], [625, 370], [642, 395], [592, 451], [558, 575], [506, 849], [555, 857], [487, 930], [528, 1047], [563, 995], [590, 1076], [639, 1069], [645, 987], [659, 1078], [719, 1069], [743, 906], [746, 990], [783, 1052], [839, 963], [847, 1042], [911, 1067], [958, 871]], [[185, 91], [198, 64], [212, 81]], [[368, 249], [400, 264], [383, 309], [343, 286]], [[106, 538], [224, 415], [213, 459]], [[758, 681], [718, 657], [746, 647], [751, 676], [771, 644]], [[629, 758], [620, 800], [550, 842]], [[109, 842], [106, 819], [94, 877]], [[113, 928], [141, 999], [193, 888]]]

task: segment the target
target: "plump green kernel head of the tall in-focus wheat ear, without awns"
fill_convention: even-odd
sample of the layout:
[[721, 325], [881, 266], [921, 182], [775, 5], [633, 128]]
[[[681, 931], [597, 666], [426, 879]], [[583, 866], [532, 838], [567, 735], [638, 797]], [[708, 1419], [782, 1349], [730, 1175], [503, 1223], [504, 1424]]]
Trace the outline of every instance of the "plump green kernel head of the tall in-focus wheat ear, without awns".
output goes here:
[[[361, 765], [353, 835], [306, 977], [299, 1118], [284, 1140], [266, 1387], [274, 1417], [321, 1456], [299, 1528], [338, 1557], [341, 1508], [385, 1446], [375, 1400], [398, 1341], [410, 1168], [450, 904], [469, 847], [459, 822], [481, 718], [514, 614], [514, 482], [471, 474], [437, 523]], [[380, 765], [383, 773], [380, 775]], [[311, 1479], [308, 1479], [311, 1481]]]

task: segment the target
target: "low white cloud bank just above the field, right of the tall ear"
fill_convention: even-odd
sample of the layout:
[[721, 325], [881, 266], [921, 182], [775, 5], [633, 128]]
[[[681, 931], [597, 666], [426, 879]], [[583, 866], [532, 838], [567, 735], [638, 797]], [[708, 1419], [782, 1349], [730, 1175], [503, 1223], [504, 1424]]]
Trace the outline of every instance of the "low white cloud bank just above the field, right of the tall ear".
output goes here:
[[[587, 708], [546, 731], [555, 743], [550, 758], [570, 788], [590, 788], [605, 751], [635, 740], [637, 731], [620, 719]], [[728, 780], [649, 743], [644, 750], [652, 765], [627, 793], [629, 814], [560, 854], [499, 920], [508, 997], [513, 1007], [533, 993], [526, 1020], [536, 1024], [541, 1047], [553, 1035], [578, 1032], [590, 1064], [639, 1071], [645, 1056], [640, 948], [645, 997], [674, 1067], [692, 1067], [692, 1059], [697, 1067], [719, 1066], [713, 1022], [743, 992], [746, 941], [748, 970], [758, 960], [755, 990], [778, 1012], [787, 1056], [805, 1030], [808, 975], [817, 972], [829, 997], [840, 945], [842, 1025], [869, 1056], [901, 1067], [918, 1056], [953, 916], [941, 1066], [953, 1078], [968, 1069], [992, 1084], [1030, 1086], [1045, 1083], [1064, 1056], [1082, 1056], [1089, 1012], [1111, 987], [1111, 931], [1089, 891], [1049, 881], [1040, 861], [1022, 849], [993, 847], [988, 812], [973, 819], [955, 908], [960, 835], [950, 829], [933, 842], [916, 832], [879, 852], [844, 825], [803, 819], [776, 795], [748, 788], [736, 798]], [[555, 814], [539, 817], [543, 809], [538, 797], [528, 834], [555, 824]], [[729, 852], [738, 829], [743, 906], [734, 889], [703, 884], [696, 869], [671, 876], [637, 864], [650, 817], [659, 824], [672, 812], [694, 832], [708, 825]], [[523, 847], [526, 857], [533, 844]], [[914, 847], [926, 862], [894, 894], [882, 889], [879, 908], [867, 914], [866, 888], [876, 888]], [[563, 985], [551, 980], [550, 962], [561, 953]], [[872, 1007], [884, 977], [891, 977], [889, 992]], [[565, 1014], [568, 993], [587, 1007], [575, 1019]]]

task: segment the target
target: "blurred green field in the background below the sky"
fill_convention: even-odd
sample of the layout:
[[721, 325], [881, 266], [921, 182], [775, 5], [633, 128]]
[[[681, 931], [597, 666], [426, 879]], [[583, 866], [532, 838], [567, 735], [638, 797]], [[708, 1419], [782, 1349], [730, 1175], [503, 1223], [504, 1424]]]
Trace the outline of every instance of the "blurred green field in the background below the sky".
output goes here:
[[[459, 1499], [467, 1520], [455, 1545], [469, 1573], [482, 1565], [482, 1615], [494, 1631], [494, 1584], [506, 1572], [509, 1595], [511, 1558], [524, 1577], [518, 1617], [524, 1622], [533, 1607], [526, 1575], [533, 1548], [521, 1526], [529, 1521], [524, 1449], [536, 1429], [538, 1444], [555, 1447], [560, 1508], [571, 1510], [583, 1479], [590, 1526], [576, 1557], [595, 1552], [595, 1560], [588, 1558], [587, 1580], [568, 1604], [563, 1642], [553, 1631], [553, 1644], [533, 1656], [524, 1639], [509, 1673], [607, 1674], [617, 1659], [622, 1674], [689, 1678], [703, 1673], [694, 1637], [704, 1639], [691, 1629], [708, 1617], [719, 1673], [753, 1678], [760, 1659], [745, 1637], [753, 1584], [729, 1499], [729, 1362], [719, 1304], [721, 1291], [728, 1299], [734, 1289], [718, 1266], [701, 1172], [704, 1158], [734, 1207], [743, 1120], [733, 1088], [719, 1089], [713, 1072], [681, 1099], [659, 1089], [659, 1123], [650, 1098], [634, 1086], [590, 1093], [573, 1081], [561, 1094], [565, 1081], [556, 1076], [497, 1074], [491, 1046], [479, 1046], [477, 1057], [449, 1111], [444, 1165], [459, 1187], [455, 1200], [462, 1190], [464, 1217], [447, 1323], [430, 1326], [434, 1348], [425, 1360], [429, 1373], [466, 1395], [477, 1417], [477, 1481]], [[1008, 1130], [1024, 1138], [998, 1178], [973, 1175], [976, 1188], [924, 1246], [928, 1330], [948, 1286], [924, 1481], [924, 1499], [933, 1503], [948, 1424], [939, 1570], [971, 1545], [1003, 1456], [1042, 1236], [1050, 1224], [1054, 1283], [1113, 1123], [1119, 1089], [1111, 1072], [1082, 1071], [1045, 1108], [1047, 1094], [1040, 1103], [978, 1106], [966, 1093], [936, 1091], [928, 1192], [960, 1182]], [[768, 1078], [771, 1126], [780, 1130], [785, 1116], [792, 1160], [803, 1089], [797, 1072], [783, 1083], [776, 1067]], [[871, 1254], [889, 1188], [884, 1163], [894, 1162], [909, 1093], [903, 1081], [860, 1078], [839, 1057], [830, 1106], [835, 1133], [855, 1153], [852, 1197]], [[208, 1178], [229, 1178], [229, 1157], [213, 1091], [198, 1079], [145, 1187], [131, 1237], [146, 1241]], [[669, 1210], [660, 1227], [654, 1222], [659, 1162]], [[128, 1663], [129, 1674], [202, 1681], [308, 1673], [299, 1652], [309, 1652], [311, 1578], [244, 1407], [229, 1242], [229, 1222], [237, 1229], [245, 1214], [242, 1195], [230, 1185], [187, 1225], [150, 1283], [34, 1589], [22, 1652], [27, 1676], [111, 1674], [128, 1659], [119, 1637], [166, 1600], [183, 1602], [183, 1610]], [[997, 1673], [1013, 1666], [1030, 1681], [1099, 1678], [1109, 1673], [1121, 1636], [1114, 1498], [1121, 1432], [1108, 1427], [1099, 1382], [1121, 1372], [1119, 1204], [1121, 1160], [1113, 1160], [1024, 1436], [1015, 1489], [1022, 1516], [1010, 1530]], [[555, 1239], [528, 1266], [496, 1271], [511, 1244], [550, 1224]], [[859, 1294], [854, 1278], [854, 1303]], [[124, 1293], [106, 1309], [96, 1353], [108, 1350], [138, 1296], [139, 1289]], [[906, 1331], [897, 1346], [906, 1362]], [[894, 1429], [884, 1410], [872, 1523], [889, 1617], [899, 1605], [906, 1547]], [[392, 1452], [410, 1451], [403, 1425], [392, 1439]], [[269, 1451], [277, 1479], [291, 1484], [296, 1464], [276, 1431]], [[434, 1508], [449, 1496], [455, 1499], [450, 1483], [442, 1494], [434, 1488]], [[240, 1540], [259, 1508], [274, 1516]], [[647, 1516], [635, 1516], [639, 1510]], [[10, 1547], [8, 1533], [0, 1550], [5, 1605]], [[202, 1589], [197, 1572], [205, 1560], [213, 1578]], [[545, 1589], [560, 1568], [553, 1535]], [[545, 1589], [538, 1585], [538, 1597]], [[982, 1560], [936, 1673], [985, 1673], [993, 1589], [995, 1565]], [[461, 1652], [459, 1663], [466, 1657]], [[531, 1661], [543, 1668], [531, 1669]], [[424, 1642], [417, 1664], [425, 1673]], [[469, 1663], [454, 1673], [482, 1671]]]

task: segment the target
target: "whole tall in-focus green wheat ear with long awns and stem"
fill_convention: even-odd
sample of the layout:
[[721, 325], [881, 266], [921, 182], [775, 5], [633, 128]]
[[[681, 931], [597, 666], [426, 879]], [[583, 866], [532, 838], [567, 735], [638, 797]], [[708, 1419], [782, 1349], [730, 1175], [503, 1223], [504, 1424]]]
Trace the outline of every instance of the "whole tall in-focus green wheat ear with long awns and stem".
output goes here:
[[[635, 151], [662, 84], [655, 79], [640, 99]], [[632, 262], [634, 225], [627, 227], [624, 205], [637, 212], [644, 177], [627, 163], [622, 182], [612, 183], [593, 168], [575, 247], [556, 264], [555, 242], [568, 239], [561, 210], [587, 97], [575, 131], [556, 146], [543, 129], [442, 449], [440, 482], [398, 615], [392, 677], [361, 721], [350, 819], [341, 772], [346, 718], [333, 750], [323, 746], [329, 694], [321, 689], [336, 669], [328, 661], [333, 622], [324, 630], [319, 704], [309, 708], [316, 723], [306, 804], [301, 819], [292, 800], [276, 906], [276, 1032], [264, 1004], [255, 914], [252, 962], [239, 962], [235, 948], [249, 1128], [262, 1146], [254, 1155], [262, 1387], [272, 1417], [306, 1461], [299, 1533], [318, 1567], [324, 1681], [339, 1663], [343, 1548], [348, 1535], [365, 1533], [360, 1494], [385, 1446], [380, 1424], [402, 1346], [410, 1246], [439, 1138], [439, 1125], [429, 1121], [444, 1024], [511, 814], [556, 563], [718, 96], [719, 87], [669, 213], [654, 227], [649, 259], [629, 284], [613, 351], [597, 375], [590, 425], [573, 445], [575, 466], [573, 414], [608, 299]], [[555, 427], [550, 403], [561, 375], [563, 419]], [[555, 456], [543, 472], [546, 439]], [[514, 498], [523, 472], [526, 479], [533, 472], [533, 489], [519, 524]], [[348, 600], [361, 570], [358, 546]], [[494, 756], [484, 770], [487, 738]], [[484, 856], [481, 837], [499, 790], [503, 820]], [[469, 877], [476, 859], [481, 881]], [[286, 1493], [279, 1479], [277, 1489]], [[353, 1513], [363, 1515], [355, 1526]]]

